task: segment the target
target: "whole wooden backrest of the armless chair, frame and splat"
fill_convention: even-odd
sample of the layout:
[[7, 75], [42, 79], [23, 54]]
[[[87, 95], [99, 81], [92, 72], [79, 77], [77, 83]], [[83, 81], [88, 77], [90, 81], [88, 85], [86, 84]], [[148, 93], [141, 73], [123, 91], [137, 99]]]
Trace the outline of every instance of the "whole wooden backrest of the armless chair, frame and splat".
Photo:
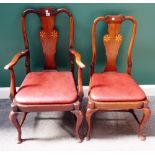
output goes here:
[[136, 35], [137, 22], [134, 17], [131, 16], [123, 16], [123, 15], [109, 15], [98, 17], [94, 20], [92, 27], [92, 63], [91, 63], [91, 76], [94, 73], [94, 66], [96, 63], [96, 26], [97, 23], [103, 21], [107, 24], [108, 30], [107, 34], [103, 36], [103, 43], [106, 50], [106, 58], [107, 63], [105, 66], [105, 71], [117, 71], [117, 55], [119, 52], [119, 48], [123, 41], [123, 37], [121, 35], [120, 29], [121, 24], [129, 20], [133, 23], [132, 35], [128, 48], [128, 56], [127, 56], [127, 73], [131, 74], [132, 68], [132, 48], [134, 44], [134, 39]]

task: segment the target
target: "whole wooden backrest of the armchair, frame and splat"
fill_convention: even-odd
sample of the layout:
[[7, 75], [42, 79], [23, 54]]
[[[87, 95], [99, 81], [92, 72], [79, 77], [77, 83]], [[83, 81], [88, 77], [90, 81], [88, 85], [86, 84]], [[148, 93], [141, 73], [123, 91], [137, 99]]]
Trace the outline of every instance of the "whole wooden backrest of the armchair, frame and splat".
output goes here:
[[[22, 32], [25, 48], [29, 49], [29, 43], [26, 32], [26, 15], [34, 13], [37, 14], [41, 22], [41, 30], [39, 32], [39, 38], [41, 41], [43, 55], [44, 55], [44, 69], [56, 69], [55, 63], [55, 54], [56, 54], [56, 45], [58, 40], [58, 32], [55, 29], [55, 18], [59, 13], [66, 13], [70, 19], [70, 38], [69, 38], [69, 49], [73, 47], [74, 40], [74, 20], [72, 14], [62, 8], [41, 8], [41, 9], [27, 9], [23, 12], [22, 15]], [[74, 58], [70, 53], [70, 63], [71, 71], [74, 72]], [[26, 57], [26, 65], [29, 67], [30, 71], [30, 54]]]

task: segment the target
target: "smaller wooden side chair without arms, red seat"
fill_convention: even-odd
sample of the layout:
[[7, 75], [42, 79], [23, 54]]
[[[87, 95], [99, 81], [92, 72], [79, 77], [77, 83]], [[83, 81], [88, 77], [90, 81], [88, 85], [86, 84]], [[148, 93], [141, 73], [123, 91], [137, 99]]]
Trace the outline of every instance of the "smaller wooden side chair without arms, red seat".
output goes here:
[[[133, 24], [132, 35], [127, 54], [126, 73], [117, 71], [116, 59], [118, 50], [122, 43], [120, 34], [121, 24], [129, 20]], [[108, 33], [103, 37], [107, 62], [102, 73], [94, 73], [96, 63], [96, 25], [104, 21], [108, 26]], [[88, 105], [86, 111], [87, 134], [86, 140], [90, 138], [91, 118], [98, 111], [130, 112], [139, 124], [138, 135], [145, 140], [143, 128], [150, 116], [150, 109], [145, 93], [131, 76], [132, 69], [132, 48], [136, 35], [137, 22], [134, 17], [123, 15], [108, 15], [98, 17], [92, 26], [92, 63], [90, 66], [90, 83], [88, 94]], [[143, 112], [143, 118], [138, 120], [134, 110]]]

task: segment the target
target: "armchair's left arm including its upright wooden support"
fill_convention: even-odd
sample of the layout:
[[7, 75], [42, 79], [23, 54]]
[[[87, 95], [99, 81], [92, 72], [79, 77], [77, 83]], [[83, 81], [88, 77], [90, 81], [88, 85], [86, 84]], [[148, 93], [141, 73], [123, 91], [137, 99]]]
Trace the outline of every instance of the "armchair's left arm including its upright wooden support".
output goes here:
[[10, 97], [13, 100], [13, 98], [16, 95], [16, 78], [13, 67], [16, 65], [18, 60], [22, 58], [23, 56], [26, 56], [28, 54], [28, 50], [21, 51], [17, 53], [11, 62], [4, 67], [5, 70], [10, 70]]

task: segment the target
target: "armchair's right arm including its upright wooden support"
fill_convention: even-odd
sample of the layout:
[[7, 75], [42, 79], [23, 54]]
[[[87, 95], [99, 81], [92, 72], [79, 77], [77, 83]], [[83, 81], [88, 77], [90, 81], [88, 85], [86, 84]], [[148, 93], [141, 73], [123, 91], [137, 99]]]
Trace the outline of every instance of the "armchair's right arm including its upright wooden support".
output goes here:
[[70, 53], [74, 56], [76, 64], [78, 66], [78, 96], [80, 100], [83, 97], [83, 87], [82, 87], [82, 69], [85, 68], [85, 65], [81, 62], [80, 54], [74, 49], [70, 49]]

